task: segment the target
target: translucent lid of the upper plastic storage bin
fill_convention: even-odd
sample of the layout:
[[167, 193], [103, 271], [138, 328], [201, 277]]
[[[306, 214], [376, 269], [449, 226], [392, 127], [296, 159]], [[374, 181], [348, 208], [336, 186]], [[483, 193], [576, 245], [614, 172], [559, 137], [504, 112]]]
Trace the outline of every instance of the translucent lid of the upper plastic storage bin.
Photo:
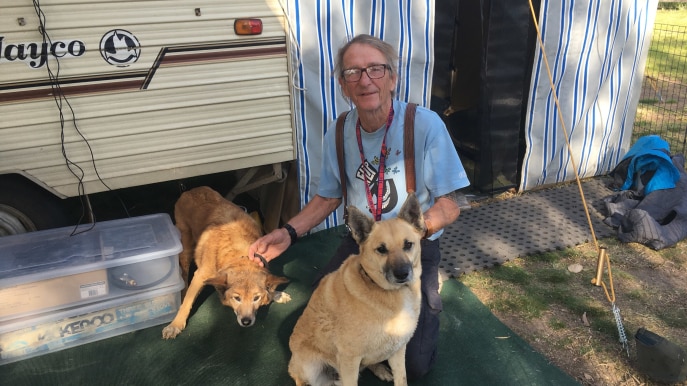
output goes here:
[[152, 214], [0, 237], [0, 288], [178, 255], [179, 231]]

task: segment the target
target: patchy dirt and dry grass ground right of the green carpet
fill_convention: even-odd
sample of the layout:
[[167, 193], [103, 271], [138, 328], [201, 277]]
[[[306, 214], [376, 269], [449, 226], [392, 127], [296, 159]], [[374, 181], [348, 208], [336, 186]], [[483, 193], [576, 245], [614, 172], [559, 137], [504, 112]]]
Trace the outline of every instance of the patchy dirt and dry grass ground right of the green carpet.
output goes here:
[[[624, 244], [615, 238], [599, 240], [599, 245], [607, 248], [611, 261], [616, 306], [623, 319], [629, 355], [619, 342], [611, 303], [603, 287], [591, 284], [598, 256], [594, 243], [563, 251], [557, 258], [516, 259], [503, 267], [471, 273], [460, 280], [504, 324], [581, 384], [662, 384], [638, 371], [634, 336], [643, 327], [687, 352], [687, 242], [683, 240], [676, 247], [662, 251], [635, 243]], [[571, 272], [569, 267], [574, 264], [581, 265], [582, 271]], [[530, 273], [552, 269], [565, 272], [571, 279], [555, 283], [556, 290], [577, 294], [586, 302], [589, 312], [583, 311], [584, 307], [571, 309], [576, 307], [556, 302], [535, 316], [526, 307], [500, 306], [504, 298], [527, 296], [532, 286], [538, 286], [532, 282], [525, 285], [498, 279], [496, 271], [504, 267]], [[610, 286], [607, 274], [603, 282]], [[679, 384], [687, 385], [687, 382]]]

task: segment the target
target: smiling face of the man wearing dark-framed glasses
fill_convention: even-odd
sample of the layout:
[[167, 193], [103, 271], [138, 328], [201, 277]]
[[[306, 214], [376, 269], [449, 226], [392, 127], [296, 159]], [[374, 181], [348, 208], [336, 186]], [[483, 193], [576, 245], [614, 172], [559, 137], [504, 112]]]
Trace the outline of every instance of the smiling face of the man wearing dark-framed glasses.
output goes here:
[[[386, 58], [379, 50], [366, 44], [352, 44], [343, 56], [344, 70], [362, 69], [375, 64], [387, 64]], [[383, 77], [370, 79], [363, 72], [357, 82], [339, 78], [339, 85], [358, 110], [373, 112], [390, 104], [391, 92], [396, 88], [396, 76], [392, 76], [387, 69]]]

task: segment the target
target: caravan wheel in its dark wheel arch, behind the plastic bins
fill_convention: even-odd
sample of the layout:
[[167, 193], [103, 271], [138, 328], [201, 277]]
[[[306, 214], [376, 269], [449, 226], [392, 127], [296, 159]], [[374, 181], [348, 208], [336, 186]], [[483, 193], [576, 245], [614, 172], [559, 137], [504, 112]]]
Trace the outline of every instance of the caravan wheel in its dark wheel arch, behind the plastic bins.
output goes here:
[[0, 176], [0, 237], [66, 225], [62, 200], [24, 177]]

